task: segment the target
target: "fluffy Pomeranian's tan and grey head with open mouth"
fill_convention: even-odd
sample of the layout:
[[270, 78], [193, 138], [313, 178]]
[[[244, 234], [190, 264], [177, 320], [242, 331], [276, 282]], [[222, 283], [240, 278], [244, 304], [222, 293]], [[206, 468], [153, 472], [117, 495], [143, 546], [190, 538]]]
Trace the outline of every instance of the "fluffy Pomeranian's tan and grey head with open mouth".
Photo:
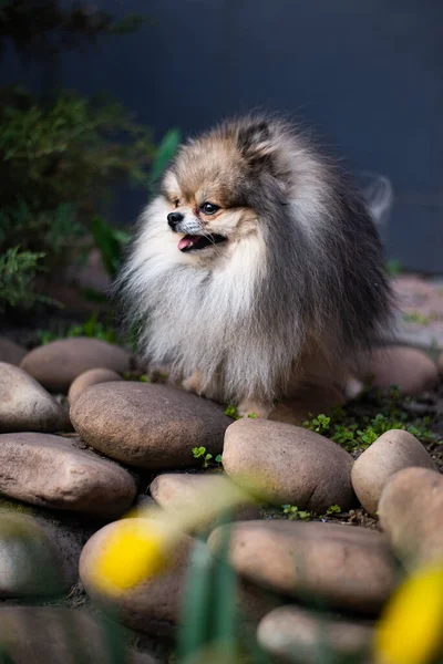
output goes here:
[[230, 122], [182, 147], [162, 184], [164, 224], [179, 236], [177, 250], [210, 258], [259, 232], [260, 209], [285, 197], [279, 128]]

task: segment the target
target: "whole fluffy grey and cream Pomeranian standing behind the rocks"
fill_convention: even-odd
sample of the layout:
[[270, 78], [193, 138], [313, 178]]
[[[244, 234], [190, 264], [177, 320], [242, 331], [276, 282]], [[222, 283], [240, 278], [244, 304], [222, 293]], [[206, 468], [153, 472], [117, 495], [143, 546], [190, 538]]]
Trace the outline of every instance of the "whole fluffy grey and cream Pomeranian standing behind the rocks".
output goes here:
[[279, 120], [189, 139], [141, 217], [120, 279], [152, 367], [268, 417], [305, 385], [342, 391], [390, 313], [364, 203]]

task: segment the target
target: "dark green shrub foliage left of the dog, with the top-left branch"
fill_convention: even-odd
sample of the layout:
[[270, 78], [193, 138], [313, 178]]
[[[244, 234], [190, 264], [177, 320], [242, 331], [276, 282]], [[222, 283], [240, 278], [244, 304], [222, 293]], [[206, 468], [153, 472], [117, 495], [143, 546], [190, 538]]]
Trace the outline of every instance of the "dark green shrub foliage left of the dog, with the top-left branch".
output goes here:
[[[56, 70], [63, 50], [134, 31], [143, 21], [117, 21], [86, 2], [0, 0], [0, 56], [10, 42], [24, 61]], [[0, 87], [0, 258], [9, 264], [6, 252], [18, 247], [16, 261], [21, 257], [2, 305], [41, 300], [32, 292], [37, 268], [50, 278], [93, 246], [113, 278], [128, 234], [105, 220], [112, 194], [124, 181], [152, 190], [178, 141], [178, 132], [168, 132], [156, 148], [147, 127], [103, 96], [53, 90], [41, 100]]]

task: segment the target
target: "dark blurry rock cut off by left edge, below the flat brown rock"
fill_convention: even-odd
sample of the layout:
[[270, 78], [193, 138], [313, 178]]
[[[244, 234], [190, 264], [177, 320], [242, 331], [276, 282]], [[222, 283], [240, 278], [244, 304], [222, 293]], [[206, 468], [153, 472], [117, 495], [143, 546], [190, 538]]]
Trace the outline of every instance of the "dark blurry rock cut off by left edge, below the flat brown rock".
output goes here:
[[0, 598], [50, 595], [78, 580], [82, 542], [23, 513], [0, 512]]

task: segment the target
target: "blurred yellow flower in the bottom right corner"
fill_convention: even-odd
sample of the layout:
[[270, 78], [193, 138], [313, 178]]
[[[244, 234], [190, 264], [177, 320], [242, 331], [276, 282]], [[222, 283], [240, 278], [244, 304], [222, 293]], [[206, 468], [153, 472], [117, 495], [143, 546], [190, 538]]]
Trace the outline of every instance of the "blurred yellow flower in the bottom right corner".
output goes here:
[[427, 664], [442, 654], [443, 564], [406, 579], [375, 630], [375, 664]]

